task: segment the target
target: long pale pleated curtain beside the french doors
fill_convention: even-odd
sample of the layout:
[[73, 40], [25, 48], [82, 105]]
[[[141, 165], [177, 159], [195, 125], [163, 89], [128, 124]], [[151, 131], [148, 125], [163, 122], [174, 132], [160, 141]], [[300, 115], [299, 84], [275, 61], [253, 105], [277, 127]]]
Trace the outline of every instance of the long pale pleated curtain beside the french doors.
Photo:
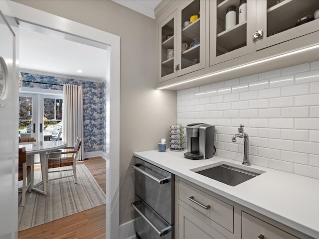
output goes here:
[[77, 160], [84, 160], [83, 143], [83, 87], [63, 85], [63, 141], [74, 146], [77, 136], [82, 138], [82, 145]]

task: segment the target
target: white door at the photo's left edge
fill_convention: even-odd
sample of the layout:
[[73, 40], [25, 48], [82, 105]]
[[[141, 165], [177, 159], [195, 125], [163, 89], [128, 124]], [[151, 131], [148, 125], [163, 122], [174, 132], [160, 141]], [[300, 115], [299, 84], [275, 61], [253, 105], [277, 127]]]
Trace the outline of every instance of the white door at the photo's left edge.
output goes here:
[[[12, 19], [8, 19], [13, 24]], [[12, 22], [12, 23], [11, 23]], [[16, 29], [16, 26], [12, 26]], [[17, 235], [18, 75], [15, 34], [0, 11], [0, 239]]]

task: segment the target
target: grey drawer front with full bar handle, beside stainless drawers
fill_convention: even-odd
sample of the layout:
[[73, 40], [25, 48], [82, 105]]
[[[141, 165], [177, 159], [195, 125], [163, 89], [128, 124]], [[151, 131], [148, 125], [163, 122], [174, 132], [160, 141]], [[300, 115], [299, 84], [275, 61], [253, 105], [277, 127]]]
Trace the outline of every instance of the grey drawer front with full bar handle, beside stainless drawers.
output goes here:
[[232, 205], [181, 181], [178, 181], [178, 199], [229, 232], [234, 232], [234, 207]]

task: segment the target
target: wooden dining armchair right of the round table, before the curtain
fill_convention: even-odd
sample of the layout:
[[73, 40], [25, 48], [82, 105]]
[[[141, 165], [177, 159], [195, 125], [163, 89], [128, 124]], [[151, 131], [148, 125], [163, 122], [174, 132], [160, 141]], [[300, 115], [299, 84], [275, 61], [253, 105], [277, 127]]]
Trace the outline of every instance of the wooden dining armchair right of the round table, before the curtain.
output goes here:
[[[81, 144], [82, 144], [82, 139], [80, 136], [78, 136], [73, 147], [65, 147], [59, 150], [58, 152], [49, 153], [48, 161], [47, 161], [48, 167], [46, 168], [47, 181], [67, 178], [67, 177], [74, 177], [74, 181], [75, 183], [77, 183], [75, 162], [76, 162], [76, 158], [78, 156]], [[55, 171], [52, 171], [52, 170], [49, 171], [49, 169], [51, 168], [61, 168], [65, 166], [72, 166], [72, 169], [60, 169]], [[63, 171], [73, 171], [73, 174], [62, 176]], [[54, 172], [60, 172], [60, 177], [54, 177], [54, 178], [48, 179], [49, 173], [54, 173]]]

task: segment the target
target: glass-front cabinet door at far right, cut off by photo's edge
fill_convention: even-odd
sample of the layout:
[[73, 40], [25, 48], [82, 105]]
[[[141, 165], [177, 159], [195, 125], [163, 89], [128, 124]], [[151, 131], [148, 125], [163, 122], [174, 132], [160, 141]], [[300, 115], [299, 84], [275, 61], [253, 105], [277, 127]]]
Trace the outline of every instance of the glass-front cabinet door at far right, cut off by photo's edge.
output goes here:
[[263, 36], [256, 50], [318, 31], [318, 9], [319, 0], [257, 0], [256, 30]]

